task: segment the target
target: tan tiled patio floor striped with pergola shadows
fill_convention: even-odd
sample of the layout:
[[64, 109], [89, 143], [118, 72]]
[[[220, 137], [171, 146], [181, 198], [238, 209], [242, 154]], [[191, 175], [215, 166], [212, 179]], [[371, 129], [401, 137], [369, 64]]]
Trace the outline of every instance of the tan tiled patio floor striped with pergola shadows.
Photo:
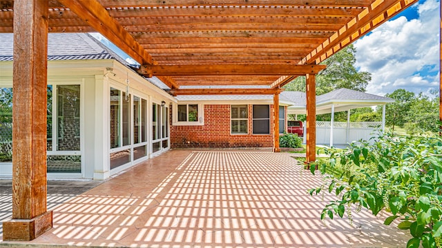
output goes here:
[[[55, 207], [29, 244], [104, 247], [405, 247], [362, 211], [320, 221], [332, 196], [285, 153], [173, 150]], [[18, 245], [15, 242], [10, 244]], [[3, 242], [6, 245], [6, 242]]]

